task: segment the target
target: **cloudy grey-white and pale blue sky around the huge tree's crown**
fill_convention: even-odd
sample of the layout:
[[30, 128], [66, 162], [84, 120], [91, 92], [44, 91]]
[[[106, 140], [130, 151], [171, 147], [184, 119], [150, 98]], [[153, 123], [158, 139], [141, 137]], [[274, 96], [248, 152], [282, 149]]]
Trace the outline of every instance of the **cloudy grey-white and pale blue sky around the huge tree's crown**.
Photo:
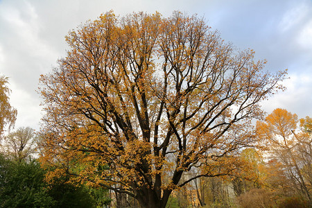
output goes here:
[[70, 30], [110, 10], [120, 16], [157, 11], [168, 17], [180, 10], [204, 17], [225, 42], [266, 59], [266, 71], [288, 69], [286, 91], [261, 103], [263, 110], [312, 116], [312, 0], [0, 0], [0, 75], [9, 78], [15, 128], [39, 130], [40, 74], [66, 55]]

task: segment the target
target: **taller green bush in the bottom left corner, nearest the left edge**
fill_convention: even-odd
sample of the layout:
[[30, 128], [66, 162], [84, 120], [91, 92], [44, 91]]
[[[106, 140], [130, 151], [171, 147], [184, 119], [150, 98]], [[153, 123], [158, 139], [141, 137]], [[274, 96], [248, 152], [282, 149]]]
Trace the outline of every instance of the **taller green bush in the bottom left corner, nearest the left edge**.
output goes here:
[[35, 161], [13, 162], [0, 155], [0, 207], [53, 207], [44, 171]]

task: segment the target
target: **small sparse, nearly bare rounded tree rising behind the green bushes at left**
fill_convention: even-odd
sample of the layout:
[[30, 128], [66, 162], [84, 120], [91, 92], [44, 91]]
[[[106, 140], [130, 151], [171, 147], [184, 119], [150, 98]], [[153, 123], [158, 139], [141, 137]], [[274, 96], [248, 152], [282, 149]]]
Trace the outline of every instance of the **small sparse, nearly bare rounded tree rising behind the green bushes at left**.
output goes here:
[[10, 155], [19, 162], [31, 157], [37, 149], [35, 130], [26, 127], [10, 132], [4, 137], [3, 147], [6, 150], [6, 155]]

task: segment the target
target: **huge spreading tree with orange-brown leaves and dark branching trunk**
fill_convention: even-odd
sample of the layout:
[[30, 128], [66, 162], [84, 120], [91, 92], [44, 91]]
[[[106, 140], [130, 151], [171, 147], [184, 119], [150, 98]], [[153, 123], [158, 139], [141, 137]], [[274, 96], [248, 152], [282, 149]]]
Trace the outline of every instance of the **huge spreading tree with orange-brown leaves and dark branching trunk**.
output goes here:
[[283, 88], [285, 72], [263, 71], [252, 50], [181, 12], [107, 12], [66, 40], [67, 56], [41, 78], [42, 160], [58, 167], [51, 177], [68, 172], [141, 207], [165, 207], [198, 177], [231, 174], [254, 142], [259, 103]]

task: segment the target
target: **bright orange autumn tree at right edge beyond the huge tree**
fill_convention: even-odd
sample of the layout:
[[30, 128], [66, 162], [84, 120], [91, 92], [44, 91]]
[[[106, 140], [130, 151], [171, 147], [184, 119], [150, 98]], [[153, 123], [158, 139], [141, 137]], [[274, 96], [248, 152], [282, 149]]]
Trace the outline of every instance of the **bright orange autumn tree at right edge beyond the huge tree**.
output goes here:
[[266, 122], [257, 123], [257, 132], [270, 142], [270, 153], [282, 164], [292, 188], [311, 203], [311, 137], [306, 132], [296, 133], [297, 124], [296, 114], [277, 108]]

